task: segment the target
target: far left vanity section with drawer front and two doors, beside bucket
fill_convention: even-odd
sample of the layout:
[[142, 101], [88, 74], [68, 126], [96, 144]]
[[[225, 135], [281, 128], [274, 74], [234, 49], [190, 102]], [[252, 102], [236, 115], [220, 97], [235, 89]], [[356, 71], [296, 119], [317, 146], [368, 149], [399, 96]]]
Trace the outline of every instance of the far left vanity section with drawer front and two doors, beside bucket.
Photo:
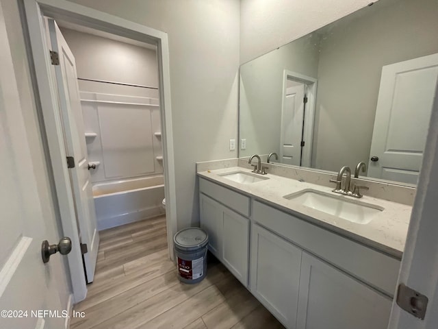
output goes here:
[[233, 200], [240, 199], [235, 208], [248, 215], [249, 198], [205, 180], [200, 180], [200, 192], [201, 228], [209, 235], [208, 248], [247, 287], [249, 219], [220, 201], [230, 196]]

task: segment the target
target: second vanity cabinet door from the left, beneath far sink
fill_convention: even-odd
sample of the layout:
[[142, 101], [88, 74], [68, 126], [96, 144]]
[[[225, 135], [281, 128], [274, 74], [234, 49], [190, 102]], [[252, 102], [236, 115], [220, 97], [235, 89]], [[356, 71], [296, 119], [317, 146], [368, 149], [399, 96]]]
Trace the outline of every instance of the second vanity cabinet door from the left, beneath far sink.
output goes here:
[[249, 220], [225, 207], [222, 209], [222, 257], [231, 273], [248, 286]]

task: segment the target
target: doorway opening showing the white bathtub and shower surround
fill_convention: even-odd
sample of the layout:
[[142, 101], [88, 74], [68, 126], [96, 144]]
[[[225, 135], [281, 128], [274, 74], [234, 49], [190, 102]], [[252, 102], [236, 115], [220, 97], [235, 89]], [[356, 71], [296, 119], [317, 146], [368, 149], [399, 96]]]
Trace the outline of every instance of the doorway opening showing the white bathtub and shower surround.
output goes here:
[[56, 23], [76, 62], [97, 229], [164, 214], [156, 46]]

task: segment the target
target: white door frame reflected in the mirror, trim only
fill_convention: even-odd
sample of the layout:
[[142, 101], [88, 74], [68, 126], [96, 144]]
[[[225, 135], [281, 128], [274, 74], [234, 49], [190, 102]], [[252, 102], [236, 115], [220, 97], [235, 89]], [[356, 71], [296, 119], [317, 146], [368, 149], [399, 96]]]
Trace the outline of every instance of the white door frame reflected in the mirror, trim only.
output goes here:
[[[313, 77], [308, 77], [294, 71], [284, 70], [283, 71], [283, 94], [281, 97], [281, 110], [283, 113], [283, 107], [285, 106], [285, 97], [287, 95], [287, 79], [290, 78], [297, 82], [302, 82], [307, 85], [307, 104], [305, 109], [305, 115], [308, 120], [305, 120], [304, 126], [304, 141], [309, 147], [302, 149], [302, 167], [310, 167], [311, 156], [312, 156], [312, 145], [313, 145], [313, 123], [315, 121], [315, 106], [316, 106], [316, 87], [318, 85], [318, 80]], [[282, 118], [283, 120], [283, 115]], [[283, 121], [282, 121], [283, 122]], [[283, 125], [281, 125], [280, 133], [280, 145], [283, 145]]]

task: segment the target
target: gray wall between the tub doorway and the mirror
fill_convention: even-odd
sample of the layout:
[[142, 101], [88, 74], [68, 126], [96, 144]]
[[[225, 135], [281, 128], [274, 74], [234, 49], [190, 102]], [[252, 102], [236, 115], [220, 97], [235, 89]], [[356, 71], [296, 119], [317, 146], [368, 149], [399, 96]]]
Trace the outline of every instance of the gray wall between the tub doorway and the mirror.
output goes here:
[[168, 33], [178, 228], [198, 224], [195, 162], [237, 156], [240, 1], [71, 1]]

